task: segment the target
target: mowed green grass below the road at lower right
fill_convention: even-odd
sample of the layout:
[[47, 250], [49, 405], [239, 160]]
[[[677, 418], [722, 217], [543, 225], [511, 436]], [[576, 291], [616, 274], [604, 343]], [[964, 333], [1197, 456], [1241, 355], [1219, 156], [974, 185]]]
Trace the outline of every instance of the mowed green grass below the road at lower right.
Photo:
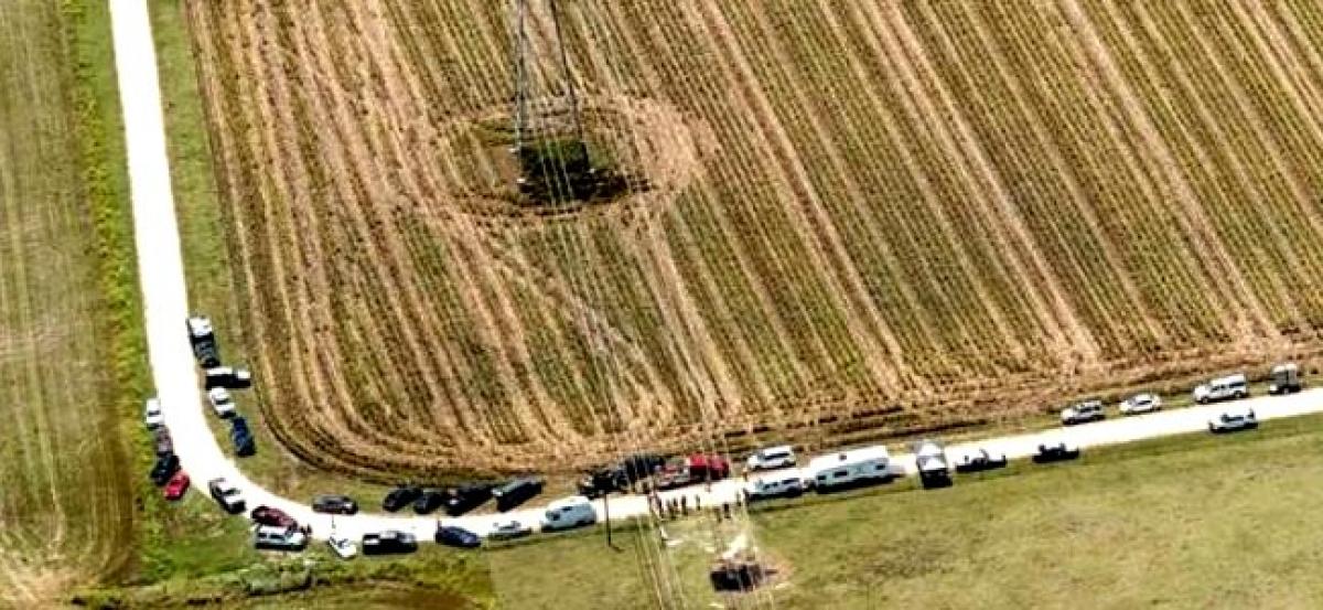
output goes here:
[[[1323, 501], [1320, 423], [1016, 462], [947, 490], [904, 480], [814, 496], [755, 511], [753, 533], [789, 574], [774, 593], [781, 609], [1319, 607], [1323, 533], [1308, 515]], [[668, 553], [684, 607], [706, 607], [708, 525], [667, 529], [683, 540]], [[495, 550], [499, 598], [511, 609], [658, 607], [628, 550], [638, 536], [618, 537], [622, 553], [601, 531]]]

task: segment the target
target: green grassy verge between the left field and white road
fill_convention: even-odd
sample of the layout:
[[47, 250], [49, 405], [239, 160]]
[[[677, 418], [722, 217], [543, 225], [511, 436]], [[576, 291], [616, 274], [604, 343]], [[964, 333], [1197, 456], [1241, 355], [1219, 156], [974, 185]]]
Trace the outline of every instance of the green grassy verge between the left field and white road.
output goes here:
[[[136, 496], [136, 554], [126, 582], [151, 582], [167, 574], [198, 574], [238, 565], [247, 546], [242, 524], [222, 523], [194, 494], [165, 503], [146, 472], [153, 462], [151, 437], [140, 422], [142, 400], [152, 392], [143, 303], [138, 284], [123, 118], [114, 69], [110, 13], [105, 3], [65, 0], [77, 50], [79, 134], [85, 181], [94, 208], [97, 254], [103, 292], [103, 335], [115, 376], [120, 433], [128, 439], [130, 480]], [[249, 552], [250, 553], [250, 552]]]

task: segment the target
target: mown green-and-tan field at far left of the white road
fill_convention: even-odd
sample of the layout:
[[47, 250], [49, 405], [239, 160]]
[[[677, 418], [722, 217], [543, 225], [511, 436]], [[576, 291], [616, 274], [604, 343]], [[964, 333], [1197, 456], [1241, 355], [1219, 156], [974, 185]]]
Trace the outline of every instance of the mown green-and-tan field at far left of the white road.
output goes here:
[[[105, 3], [0, 4], [0, 607], [54, 607], [132, 568], [138, 404], [120, 380], [106, 237], [123, 159]], [[93, 82], [102, 79], [98, 82]], [[118, 279], [124, 279], [119, 277]], [[127, 277], [127, 290], [134, 290]]]

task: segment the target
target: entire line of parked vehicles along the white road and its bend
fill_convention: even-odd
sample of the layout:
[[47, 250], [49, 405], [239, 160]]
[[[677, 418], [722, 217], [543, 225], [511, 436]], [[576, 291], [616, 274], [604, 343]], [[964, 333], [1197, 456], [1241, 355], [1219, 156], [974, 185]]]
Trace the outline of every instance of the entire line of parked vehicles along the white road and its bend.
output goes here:
[[[237, 413], [230, 390], [251, 386], [251, 374], [241, 368], [224, 367], [220, 348], [210, 320], [193, 316], [187, 320], [189, 341], [198, 365], [205, 373], [208, 402], [217, 417], [230, 422], [230, 439], [237, 457], [255, 453], [253, 433], [247, 421]], [[1271, 369], [1269, 393], [1281, 394], [1299, 392], [1303, 388], [1299, 368], [1295, 364], [1281, 364]], [[1211, 380], [1195, 388], [1195, 402], [1211, 404], [1245, 398], [1250, 394], [1244, 373]], [[1152, 393], [1135, 394], [1119, 405], [1123, 415], [1151, 413], [1163, 408], [1162, 398]], [[144, 406], [144, 423], [153, 431], [157, 460], [151, 471], [152, 480], [164, 488], [167, 499], [176, 500], [188, 491], [188, 475], [180, 470], [179, 457], [173, 453], [169, 430], [165, 427], [164, 413], [157, 398], [149, 398]], [[1062, 425], [1070, 426], [1106, 418], [1103, 404], [1097, 400], [1070, 405], [1061, 412]], [[1224, 433], [1257, 427], [1258, 422], [1252, 409], [1230, 408], [1208, 422], [1209, 431]], [[994, 454], [986, 449], [972, 449], [951, 455], [951, 451], [938, 439], [919, 439], [912, 443], [918, 480], [925, 488], [947, 487], [953, 484], [953, 472], [971, 474], [1008, 464], [1004, 454]], [[1032, 457], [1035, 463], [1050, 463], [1080, 457], [1080, 449], [1064, 441], [1046, 442], [1037, 447]], [[905, 472], [894, 463], [885, 446], [856, 447], [832, 454], [814, 457], [800, 470], [794, 447], [778, 445], [762, 447], [750, 454], [744, 463], [747, 480], [742, 486], [744, 499], [763, 501], [777, 498], [798, 498], [804, 492], [830, 494], [833, 491], [880, 484], [902, 476]], [[750, 475], [765, 472], [762, 476]], [[540, 519], [544, 532], [573, 529], [598, 521], [591, 500], [613, 492], [654, 494], [683, 488], [693, 484], [712, 483], [730, 478], [733, 467], [726, 457], [712, 453], [695, 453], [684, 457], [664, 457], [660, 454], [634, 454], [618, 463], [590, 468], [578, 483], [578, 495], [552, 501]], [[456, 517], [482, 504], [495, 500], [496, 509], [505, 512], [527, 503], [542, 492], [545, 480], [538, 476], [520, 476], [504, 483], [472, 482], [450, 487], [423, 487], [401, 484], [390, 490], [381, 501], [386, 512], [398, 512], [411, 507], [418, 515], [430, 515], [443, 509]], [[210, 496], [225, 512], [238, 515], [247, 509], [243, 494], [224, 478], [208, 482]], [[314, 512], [332, 515], [355, 515], [359, 504], [349, 496], [324, 494], [311, 501]], [[259, 505], [249, 512], [254, 524], [254, 546], [274, 550], [303, 550], [308, 544], [307, 529], [302, 528], [290, 515], [280, 509]], [[531, 536], [534, 528], [516, 519], [496, 523], [488, 533], [490, 540], [513, 540]], [[482, 537], [460, 527], [437, 523], [434, 535], [437, 544], [456, 548], [482, 546]], [[365, 535], [357, 544], [335, 532], [328, 539], [333, 553], [348, 558], [363, 554], [410, 553], [418, 543], [411, 533], [382, 531]]]

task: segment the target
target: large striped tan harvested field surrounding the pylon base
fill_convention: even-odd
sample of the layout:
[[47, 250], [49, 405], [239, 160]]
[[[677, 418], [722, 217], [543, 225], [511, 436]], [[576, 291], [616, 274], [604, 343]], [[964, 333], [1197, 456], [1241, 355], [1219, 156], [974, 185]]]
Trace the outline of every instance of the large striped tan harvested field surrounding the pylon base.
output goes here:
[[263, 409], [321, 466], [852, 442], [1319, 351], [1316, 3], [561, 1], [632, 187], [545, 209], [508, 4], [187, 3]]

